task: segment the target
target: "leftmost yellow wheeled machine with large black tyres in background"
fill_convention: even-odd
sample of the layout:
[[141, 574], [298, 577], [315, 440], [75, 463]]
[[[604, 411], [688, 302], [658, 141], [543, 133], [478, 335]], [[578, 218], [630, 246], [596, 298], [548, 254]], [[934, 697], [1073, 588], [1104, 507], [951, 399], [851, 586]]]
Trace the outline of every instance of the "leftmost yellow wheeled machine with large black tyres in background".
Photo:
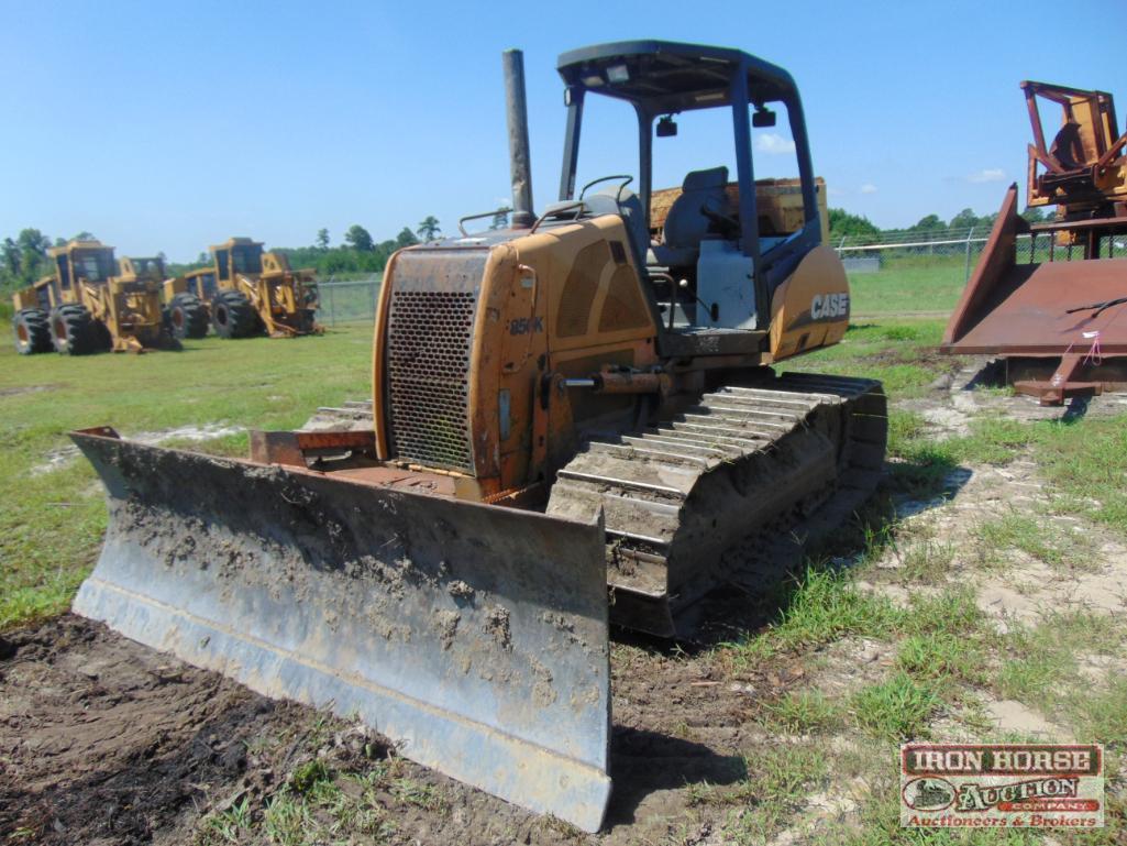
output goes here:
[[53, 273], [12, 298], [21, 355], [178, 349], [161, 315], [160, 259], [122, 258], [118, 264], [114, 248], [97, 240], [72, 240], [47, 255]]

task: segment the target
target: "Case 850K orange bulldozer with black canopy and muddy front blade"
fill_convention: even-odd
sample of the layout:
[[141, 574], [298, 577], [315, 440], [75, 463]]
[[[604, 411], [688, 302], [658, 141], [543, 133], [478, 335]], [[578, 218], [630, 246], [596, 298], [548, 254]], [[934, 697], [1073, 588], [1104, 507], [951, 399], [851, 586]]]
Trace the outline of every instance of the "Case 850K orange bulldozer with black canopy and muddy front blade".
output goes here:
[[[74, 609], [596, 830], [611, 623], [691, 636], [698, 600], [762, 582], [773, 543], [871, 491], [886, 399], [774, 369], [849, 323], [787, 71], [669, 42], [565, 53], [560, 197], [535, 214], [521, 54], [504, 67], [511, 224], [391, 258], [370, 405], [255, 432], [249, 460], [72, 433], [110, 512]], [[600, 158], [635, 169], [577, 192], [593, 97], [638, 131]], [[658, 195], [655, 133], [674, 144], [698, 109], [730, 118], [735, 173]], [[782, 184], [753, 169], [752, 127], [779, 112]]]

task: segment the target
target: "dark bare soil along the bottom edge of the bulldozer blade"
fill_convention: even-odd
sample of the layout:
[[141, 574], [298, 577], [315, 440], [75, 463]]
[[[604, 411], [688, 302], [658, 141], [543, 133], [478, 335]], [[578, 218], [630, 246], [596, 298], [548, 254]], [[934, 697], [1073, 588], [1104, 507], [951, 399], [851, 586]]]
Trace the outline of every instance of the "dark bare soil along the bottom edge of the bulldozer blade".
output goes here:
[[[272, 702], [101, 624], [64, 615], [9, 633], [2, 644], [0, 832], [12, 841], [208, 843], [201, 827], [208, 813], [243, 797], [261, 802], [314, 759], [343, 774], [389, 763], [394, 770], [380, 801], [396, 830], [340, 843], [585, 839], [397, 758], [363, 726]], [[664, 838], [666, 820], [689, 807], [686, 784], [745, 777], [742, 750], [767, 740], [748, 721], [758, 707], [755, 693], [788, 684], [786, 668], [720, 681], [702, 658], [667, 656], [646, 645], [616, 647], [613, 675], [610, 841], [642, 830]], [[442, 800], [405, 801], [393, 786], [402, 781]], [[709, 830], [703, 822], [701, 834]]]

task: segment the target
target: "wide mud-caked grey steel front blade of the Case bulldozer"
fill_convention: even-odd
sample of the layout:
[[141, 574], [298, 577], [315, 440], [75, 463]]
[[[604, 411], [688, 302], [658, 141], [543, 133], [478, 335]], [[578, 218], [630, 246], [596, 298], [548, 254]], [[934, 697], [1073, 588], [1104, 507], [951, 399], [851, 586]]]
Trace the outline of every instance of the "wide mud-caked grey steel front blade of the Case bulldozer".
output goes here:
[[109, 526], [74, 611], [587, 831], [610, 794], [603, 527], [71, 438]]

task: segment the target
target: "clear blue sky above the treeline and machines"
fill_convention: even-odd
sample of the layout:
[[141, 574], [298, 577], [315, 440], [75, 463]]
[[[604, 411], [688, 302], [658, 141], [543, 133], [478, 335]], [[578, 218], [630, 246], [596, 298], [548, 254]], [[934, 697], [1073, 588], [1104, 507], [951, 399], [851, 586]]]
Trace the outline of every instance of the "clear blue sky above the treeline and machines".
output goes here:
[[[301, 246], [362, 223], [383, 239], [427, 214], [453, 231], [507, 195], [499, 54], [512, 46], [525, 51], [542, 208], [559, 184], [557, 55], [644, 37], [790, 70], [832, 205], [884, 227], [992, 212], [1024, 180], [1021, 79], [1127, 98], [1120, 3], [1065, 6], [0, 0], [0, 237], [87, 229], [126, 255], [184, 261], [231, 235]], [[1055, 28], [1072, 41], [1053, 43]], [[613, 112], [585, 122], [580, 176], [632, 166], [632, 126]], [[722, 164], [687, 123], [659, 169]], [[786, 168], [774, 134], [761, 176]]]

